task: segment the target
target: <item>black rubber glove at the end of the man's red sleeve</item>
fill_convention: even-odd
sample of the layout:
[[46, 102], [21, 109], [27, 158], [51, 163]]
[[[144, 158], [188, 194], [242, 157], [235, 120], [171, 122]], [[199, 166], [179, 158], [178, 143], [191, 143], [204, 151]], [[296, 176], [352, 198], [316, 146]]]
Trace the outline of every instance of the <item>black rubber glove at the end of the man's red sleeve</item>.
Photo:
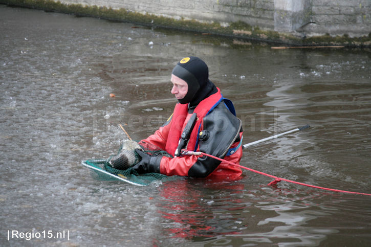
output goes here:
[[150, 172], [160, 173], [160, 163], [163, 155], [149, 155], [139, 149], [135, 149], [135, 151], [141, 160], [133, 166], [134, 170], [139, 174]]

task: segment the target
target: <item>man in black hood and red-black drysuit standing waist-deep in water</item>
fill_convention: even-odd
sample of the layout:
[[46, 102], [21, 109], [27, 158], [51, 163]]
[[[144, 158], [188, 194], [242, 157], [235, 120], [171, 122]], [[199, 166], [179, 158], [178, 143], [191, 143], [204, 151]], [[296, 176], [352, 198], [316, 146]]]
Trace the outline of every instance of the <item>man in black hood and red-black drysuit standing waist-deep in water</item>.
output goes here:
[[183, 155], [183, 149], [201, 151], [239, 164], [242, 157], [241, 120], [230, 100], [209, 80], [206, 63], [198, 57], [183, 58], [171, 73], [173, 94], [179, 101], [173, 114], [154, 134], [139, 142], [143, 150], [163, 150], [149, 155], [139, 149], [139, 174], [156, 172], [168, 176], [218, 177], [235, 179], [239, 167], [208, 156]]

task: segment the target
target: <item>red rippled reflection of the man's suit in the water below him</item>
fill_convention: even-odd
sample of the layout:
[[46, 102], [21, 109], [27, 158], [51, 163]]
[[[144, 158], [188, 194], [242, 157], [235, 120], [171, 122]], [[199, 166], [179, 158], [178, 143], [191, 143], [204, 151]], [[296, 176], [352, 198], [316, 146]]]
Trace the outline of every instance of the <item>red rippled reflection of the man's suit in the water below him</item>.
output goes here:
[[[239, 182], [186, 181], [164, 183], [157, 204], [165, 231], [172, 238], [194, 239], [238, 234], [246, 229], [239, 215], [245, 203]], [[239, 224], [236, 227], [236, 223]]]

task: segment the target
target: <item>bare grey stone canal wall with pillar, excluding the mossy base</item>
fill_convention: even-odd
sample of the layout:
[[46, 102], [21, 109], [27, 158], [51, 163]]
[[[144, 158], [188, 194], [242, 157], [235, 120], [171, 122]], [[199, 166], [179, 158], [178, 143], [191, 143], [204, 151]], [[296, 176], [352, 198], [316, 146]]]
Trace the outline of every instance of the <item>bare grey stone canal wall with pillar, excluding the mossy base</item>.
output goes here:
[[174, 19], [228, 26], [244, 21], [262, 30], [296, 36], [371, 33], [370, 0], [60, 0], [66, 4], [124, 8]]

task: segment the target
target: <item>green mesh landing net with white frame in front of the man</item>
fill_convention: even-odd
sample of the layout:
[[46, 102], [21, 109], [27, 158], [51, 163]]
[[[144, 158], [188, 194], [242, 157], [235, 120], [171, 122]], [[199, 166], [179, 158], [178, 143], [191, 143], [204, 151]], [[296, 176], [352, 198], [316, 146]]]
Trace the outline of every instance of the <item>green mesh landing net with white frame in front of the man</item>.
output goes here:
[[[134, 141], [132, 141], [132, 142], [134, 142]], [[137, 143], [137, 142], [135, 142], [135, 143]], [[158, 147], [156, 147], [154, 145], [148, 145], [146, 143], [141, 143], [140, 142], [139, 147], [144, 152], [146, 152], [150, 155], [161, 154], [161, 155], [165, 155], [165, 156], [168, 156], [168, 157], [172, 158], [172, 156], [169, 153], [159, 149]], [[131, 184], [148, 185], [153, 181], [158, 181], [158, 180], [160, 180], [160, 181], [170, 181], [170, 180], [180, 178], [180, 176], [166, 176], [166, 175], [160, 174], [160, 173], [138, 174], [138, 172], [131, 167], [134, 164], [130, 164], [130, 167], [127, 167], [124, 170], [113, 168], [112, 164], [110, 164], [110, 161], [112, 161], [120, 153], [121, 154], [125, 153], [126, 152], [125, 150], [127, 150], [125, 148], [133, 149], [133, 150], [129, 150], [129, 151], [132, 151], [130, 154], [125, 155], [125, 156], [129, 156], [129, 159], [128, 159], [129, 163], [130, 163], [130, 161], [131, 161], [131, 163], [133, 163], [133, 161], [134, 161], [134, 164], [139, 162], [140, 157], [134, 151], [134, 148], [137, 148], [136, 145], [132, 145], [128, 142], [126, 142], [126, 143], [124, 142], [124, 144], [121, 145], [121, 147], [120, 147], [120, 149], [119, 149], [119, 151], [116, 155], [111, 155], [108, 159], [86, 160], [86, 161], [83, 162], [84, 163], [83, 165], [92, 168], [92, 170], [91, 170], [92, 171], [92, 173], [91, 173], [92, 177], [94, 179], [100, 180], [100, 181], [120, 180], [120, 178], [122, 178], [122, 179], [125, 179], [125, 181], [127, 181], [128, 183], [131, 183]], [[130, 157], [131, 154], [133, 155], [132, 157]], [[101, 171], [105, 171], [105, 172], [108, 172], [110, 174], [107, 174], [107, 173], [101, 172]]]

